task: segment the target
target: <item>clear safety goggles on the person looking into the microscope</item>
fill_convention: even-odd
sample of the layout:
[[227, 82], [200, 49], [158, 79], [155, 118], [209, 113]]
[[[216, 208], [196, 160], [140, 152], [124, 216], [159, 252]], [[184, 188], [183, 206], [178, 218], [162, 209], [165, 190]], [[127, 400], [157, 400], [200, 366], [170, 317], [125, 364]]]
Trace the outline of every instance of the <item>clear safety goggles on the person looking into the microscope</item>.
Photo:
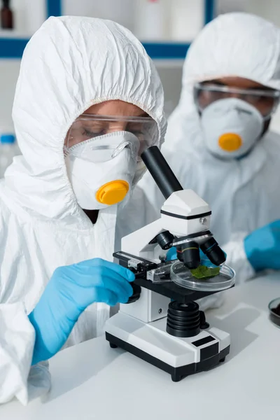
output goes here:
[[[108, 149], [109, 146], [106, 144], [106, 141], [103, 144], [102, 137], [111, 134], [112, 139], [113, 137], [117, 139], [118, 136], [114, 136], [114, 134], [118, 132], [124, 132], [124, 137], [127, 134], [127, 143], [129, 143], [129, 138], [132, 137], [129, 136], [130, 133], [137, 137], [140, 144], [138, 151], [139, 159], [146, 148], [155, 146], [159, 141], [158, 124], [151, 117], [111, 117], [83, 114], [71, 125], [64, 151], [67, 154], [71, 148], [74, 151], [74, 146], [85, 142], [90, 142], [91, 151], [94, 151], [94, 148], [96, 148], [96, 151]], [[96, 142], [92, 141], [94, 139], [96, 139]], [[112, 140], [110, 144], [112, 144]], [[124, 146], [125, 142], [122, 145], [116, 144], [116, 151], [112, 151], [111, 158]]]

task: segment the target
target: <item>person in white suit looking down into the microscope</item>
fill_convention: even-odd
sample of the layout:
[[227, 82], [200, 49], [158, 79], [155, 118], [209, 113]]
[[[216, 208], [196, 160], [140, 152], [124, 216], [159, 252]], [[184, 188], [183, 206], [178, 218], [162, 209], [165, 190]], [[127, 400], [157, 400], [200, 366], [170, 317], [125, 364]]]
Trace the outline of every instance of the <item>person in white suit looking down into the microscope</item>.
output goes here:
[[112, 262], [117, 216], [141, 152], [162, 144], [163, 103], [151, 59], [114, 22], [50, 18], [29, 41], [13, 104], [22, 156], [0, 182], [0, 402], [47, 391], [45, 360], [100, 335], [132, 295], [134, 274]]

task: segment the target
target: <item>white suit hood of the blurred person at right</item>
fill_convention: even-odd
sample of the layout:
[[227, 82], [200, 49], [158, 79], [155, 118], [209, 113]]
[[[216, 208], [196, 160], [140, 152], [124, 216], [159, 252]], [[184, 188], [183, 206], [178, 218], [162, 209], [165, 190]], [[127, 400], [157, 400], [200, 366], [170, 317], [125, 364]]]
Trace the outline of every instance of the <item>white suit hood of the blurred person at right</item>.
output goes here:
[[280, 89], [280, 29], [247, 13], [228, 13], [210, 22], [195, 38], [183, 66], [179, 105], [169, 118], [165, 148], [190, 149], [202, 157], [195, 83], [228, 76], [248, 78]]

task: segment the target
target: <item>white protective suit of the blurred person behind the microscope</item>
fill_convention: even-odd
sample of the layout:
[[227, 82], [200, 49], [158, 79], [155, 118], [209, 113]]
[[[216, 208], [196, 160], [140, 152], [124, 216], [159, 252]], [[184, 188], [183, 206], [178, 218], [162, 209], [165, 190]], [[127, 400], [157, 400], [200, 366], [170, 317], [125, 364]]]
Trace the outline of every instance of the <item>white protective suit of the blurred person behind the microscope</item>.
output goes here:
[[[183, 68], [179, 105], [169, 118], [163, 151], [184, 188], [191, 188], [212, 210], [211, 231], [237, 272], [237, 283], [253, 276], [244, 237], [280, 218], [280, 136], [267, 132], [245, 158], [221, 160], [204, 144], [193, 86], [197, 81], [238, 76], [280, 89], [280, 30], [246, 13], [221, 15], [190, 46]], [[147, 191], [151, 177], [141, 186]], [[157, 188], [148, 199], [162, 205]], [[156, 218], [153, 214], [151, 218]]]

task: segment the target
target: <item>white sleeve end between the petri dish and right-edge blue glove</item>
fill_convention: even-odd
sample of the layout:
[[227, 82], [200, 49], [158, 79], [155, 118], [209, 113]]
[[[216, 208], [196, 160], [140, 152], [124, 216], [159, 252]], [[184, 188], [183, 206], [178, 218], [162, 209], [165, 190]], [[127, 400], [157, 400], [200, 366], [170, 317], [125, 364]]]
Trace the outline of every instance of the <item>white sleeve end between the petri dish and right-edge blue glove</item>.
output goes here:
[[246, 235], [247, 234], [243, 232], [236, 233], [235, 235], [232, 235], [232, 238], [228, 243], [221, 246], [223, 251], [227, 254], [226, 263], [238, 273], [237, 278], [235, 279], [236, 284], [244, 283], [255, 276], [255, 271], [250, 262], [248, 262], [244, 249], [244, 239]]

